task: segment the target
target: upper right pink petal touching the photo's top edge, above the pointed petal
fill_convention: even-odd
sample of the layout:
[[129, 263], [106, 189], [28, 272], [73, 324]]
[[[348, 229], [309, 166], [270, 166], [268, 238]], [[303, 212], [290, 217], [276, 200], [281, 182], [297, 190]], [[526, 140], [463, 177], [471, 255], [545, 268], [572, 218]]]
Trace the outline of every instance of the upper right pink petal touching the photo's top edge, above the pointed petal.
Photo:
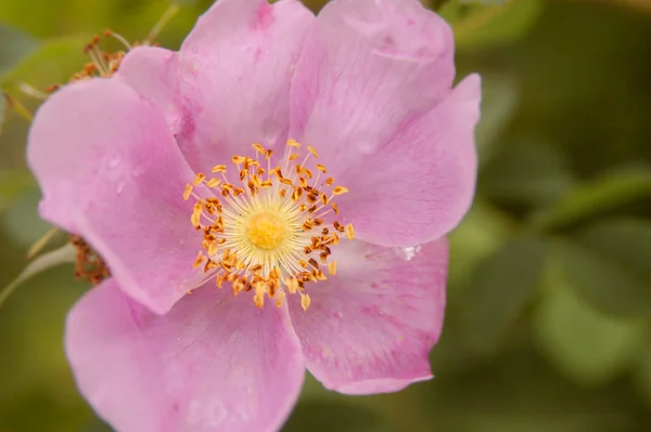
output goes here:
[[319, 153], [372, 150], [431, 109], [455, 77], [443, 18], [416, 0], [334, 0], [319, 13], [291, 94], [291, 133]]

